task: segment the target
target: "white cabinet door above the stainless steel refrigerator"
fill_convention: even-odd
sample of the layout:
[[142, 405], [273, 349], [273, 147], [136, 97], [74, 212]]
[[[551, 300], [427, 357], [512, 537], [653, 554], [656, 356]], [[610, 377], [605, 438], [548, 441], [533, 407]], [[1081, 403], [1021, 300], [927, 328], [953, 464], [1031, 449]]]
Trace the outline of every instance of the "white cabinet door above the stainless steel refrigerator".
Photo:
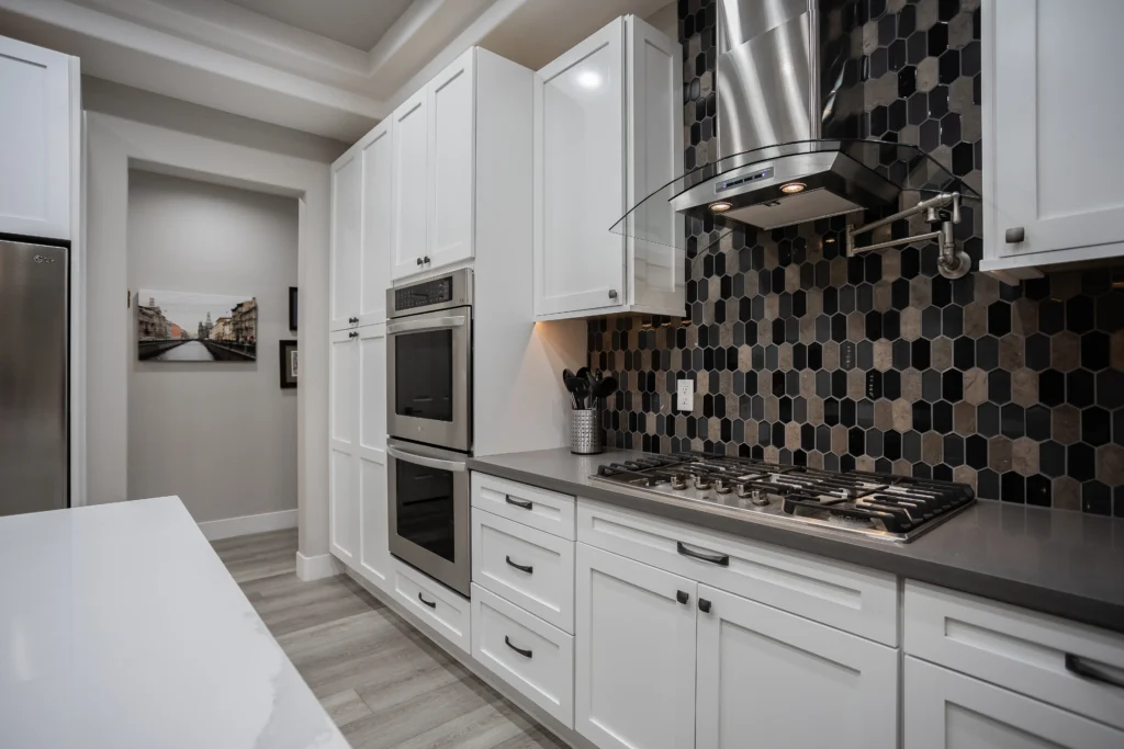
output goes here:
[[0, 37], [0, 234], [70, 239], [70, 57]]

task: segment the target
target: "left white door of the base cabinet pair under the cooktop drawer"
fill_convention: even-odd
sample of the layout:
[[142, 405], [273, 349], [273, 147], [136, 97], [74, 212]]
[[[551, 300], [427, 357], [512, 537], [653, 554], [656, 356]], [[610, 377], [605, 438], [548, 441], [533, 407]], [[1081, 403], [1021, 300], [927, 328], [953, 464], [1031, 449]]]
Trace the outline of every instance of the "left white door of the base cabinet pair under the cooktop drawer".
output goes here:
[[601, 749], [689, 749], [695, 582], [577, 546], [574, 728]]

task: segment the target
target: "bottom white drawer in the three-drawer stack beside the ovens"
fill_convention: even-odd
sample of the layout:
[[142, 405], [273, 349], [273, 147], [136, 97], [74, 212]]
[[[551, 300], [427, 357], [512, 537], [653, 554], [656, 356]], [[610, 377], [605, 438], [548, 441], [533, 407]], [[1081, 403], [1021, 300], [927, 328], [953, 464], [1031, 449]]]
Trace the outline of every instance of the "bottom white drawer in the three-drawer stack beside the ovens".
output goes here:
[[472, 657], [573, 728], [573, 636], [475, 584], [472, 620]]

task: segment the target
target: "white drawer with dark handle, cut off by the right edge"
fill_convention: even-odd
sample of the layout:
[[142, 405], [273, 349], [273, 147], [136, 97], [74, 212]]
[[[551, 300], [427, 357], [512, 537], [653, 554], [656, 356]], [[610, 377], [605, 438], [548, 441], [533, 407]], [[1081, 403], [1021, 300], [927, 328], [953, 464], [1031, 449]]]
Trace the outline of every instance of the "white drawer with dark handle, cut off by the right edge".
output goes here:
[[[906, 581], [905, 650], [1124, 729], [1124, 636]], [[1121, 685], [1067, 669], [1072, 657]]]

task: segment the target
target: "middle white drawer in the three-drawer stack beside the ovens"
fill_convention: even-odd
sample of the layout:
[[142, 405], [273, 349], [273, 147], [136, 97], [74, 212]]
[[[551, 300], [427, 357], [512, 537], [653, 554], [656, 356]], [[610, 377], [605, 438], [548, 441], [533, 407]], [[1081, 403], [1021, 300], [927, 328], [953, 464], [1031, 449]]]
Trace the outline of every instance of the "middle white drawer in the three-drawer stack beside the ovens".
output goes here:
[[573, 541], [475, 508], [472, 582], [573, 633]]

